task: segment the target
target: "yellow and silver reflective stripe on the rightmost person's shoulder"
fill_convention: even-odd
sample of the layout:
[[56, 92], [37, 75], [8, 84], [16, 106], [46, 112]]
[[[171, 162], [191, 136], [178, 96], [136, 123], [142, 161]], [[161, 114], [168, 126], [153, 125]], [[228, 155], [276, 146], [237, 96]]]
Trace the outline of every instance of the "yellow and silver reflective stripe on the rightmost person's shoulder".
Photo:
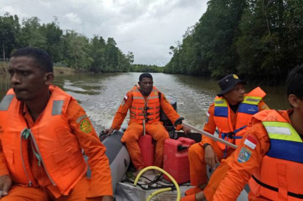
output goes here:
[[302, 142], [297, 131], [287, 122], [262, 122], [270, 139]]

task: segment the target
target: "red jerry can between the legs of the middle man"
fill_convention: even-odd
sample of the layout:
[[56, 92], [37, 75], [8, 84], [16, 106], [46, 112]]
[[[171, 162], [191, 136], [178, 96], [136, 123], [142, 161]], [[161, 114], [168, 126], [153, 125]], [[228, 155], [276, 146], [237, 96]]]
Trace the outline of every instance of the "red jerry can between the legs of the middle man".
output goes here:
[[153, 165], [155, 145], [152, 142], [151, 135], [141, 135], [138, 140], [138, 144], [145, 166], [147, 167]]

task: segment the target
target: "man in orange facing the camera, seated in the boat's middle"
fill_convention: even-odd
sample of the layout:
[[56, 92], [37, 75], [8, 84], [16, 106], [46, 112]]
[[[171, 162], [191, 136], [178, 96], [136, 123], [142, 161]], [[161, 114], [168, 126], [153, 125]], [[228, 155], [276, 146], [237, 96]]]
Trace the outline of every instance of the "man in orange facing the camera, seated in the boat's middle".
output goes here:
[[[160, 122], [160, 108], [173, 123], [180, 117], [164, 94], [153, 87], [150, 73], [142, 73], [139, 76], [138, 85], [127, 92], [111, 127], [105, 130], [106, 133], [111, 133], [114, 129], [120, 129], [130, 109], [129, 127], [124, 132], [121, 141], [125, 143], [137, 172], [145, 167], [137, 142], [143, 133], [150, 134], [156, 141], [154, 165], [162, 167], [164, 141], [169, 139], [169, 134]], [[182, 126], [176, 127], [177, 130], [181, 128]], [[190, 132], [189, 128], [182, 129], [186, 134]]]

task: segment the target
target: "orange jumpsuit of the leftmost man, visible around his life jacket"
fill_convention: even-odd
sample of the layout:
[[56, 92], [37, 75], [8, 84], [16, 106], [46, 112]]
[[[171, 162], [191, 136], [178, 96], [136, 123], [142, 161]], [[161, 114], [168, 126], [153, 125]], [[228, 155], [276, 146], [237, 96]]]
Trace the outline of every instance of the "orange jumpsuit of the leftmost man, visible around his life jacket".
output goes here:
[[[34, 122], [25, 104], [21, 112], [23, 112], [28, 128], [39, 123], [39, 119], [43, 114], [42, 112], [36, 122]], [[13, 183], [8, 195], [2, 197], [1, 201], [16, 201], [20, 199], [24, 201], [88, 201], [87, 198], [89, 198], [89, 201], [100, 201], [102, 200], [102, 196], [113, 195], [108, 158], [105, 155], [106, 147], [99, 141], [93, 128], [89, 133], [85, 133], [80, 129], [79, 119], [87, 119], [89, 121], [86, 112], [75, 99], [71, 99], [66, 114], [70, 129], [77, 136], [80, 146], [88, 156], [88, 164], [92, 170], [91, 179], [83, 177], [70, 191], [68, 196], [62, 196], [59, 189], [52, 185], [48, 179], [44, 168], [38, 165], [38, 160], [34, 156], [31, 146], [29, 146], [31, 170], [39, 185], [27, 187]], [[5, 161], [1, 143], [0, 160]], [[9, 175], [5, 163], [0, 164], [0, 175]]]

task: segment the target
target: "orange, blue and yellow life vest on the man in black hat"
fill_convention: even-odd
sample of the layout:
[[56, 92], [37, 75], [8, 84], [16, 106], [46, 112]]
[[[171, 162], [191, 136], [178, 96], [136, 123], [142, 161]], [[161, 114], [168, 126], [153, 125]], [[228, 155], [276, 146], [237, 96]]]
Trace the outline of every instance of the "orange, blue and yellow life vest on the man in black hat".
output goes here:
[[[251, 125], [252, 116], [259, 111], [259, 103], [265, 95], [266, 93], [257, 87], [244, 96], [244, 100], [238, 106], [236, 129], [231, 122], [231, 109], [227, 100], [216, 96], [214, 120], [219, 130], [219, 137], [230, 143], [234, 143], [235, 139], [235, 145], [238, 145], [247, 127]], [[227, 149], [224, 144], [217, 143], [222, 150]]]

